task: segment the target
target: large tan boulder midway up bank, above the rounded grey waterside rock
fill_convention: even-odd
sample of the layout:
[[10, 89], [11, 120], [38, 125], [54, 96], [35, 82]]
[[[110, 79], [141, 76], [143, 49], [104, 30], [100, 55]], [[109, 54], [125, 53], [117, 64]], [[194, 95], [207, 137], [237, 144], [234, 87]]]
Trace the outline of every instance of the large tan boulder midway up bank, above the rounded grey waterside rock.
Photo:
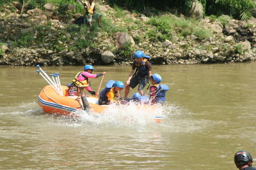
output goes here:
[[117, 48], [120, 48], [127, 43], [131, 43], [132, 46], [135, 45], [133, 38], [125, 32], [116, 32], [114, 34], [114, 38], [115, 38], [115, 45]]

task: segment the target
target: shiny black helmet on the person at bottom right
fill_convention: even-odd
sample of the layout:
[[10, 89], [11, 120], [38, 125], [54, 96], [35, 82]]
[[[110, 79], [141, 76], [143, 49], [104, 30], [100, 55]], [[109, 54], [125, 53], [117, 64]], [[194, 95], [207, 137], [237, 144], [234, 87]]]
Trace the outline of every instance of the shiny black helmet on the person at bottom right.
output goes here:
[[243, 166], [248, 164], [249, 162], [252, 162], [252, 156], [250, 153], [241, 150], [235, 154], [234, 161], [237, 167]]

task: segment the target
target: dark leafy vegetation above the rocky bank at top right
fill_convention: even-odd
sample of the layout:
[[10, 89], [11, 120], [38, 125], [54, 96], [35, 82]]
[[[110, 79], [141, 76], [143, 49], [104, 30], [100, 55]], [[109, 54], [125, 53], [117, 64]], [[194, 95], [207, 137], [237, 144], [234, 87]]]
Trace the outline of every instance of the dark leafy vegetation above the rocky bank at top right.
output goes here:
[[[194, 0], [108, 0], [109, 3], [127, 6], [127, 8], [143, 10], [154, 7], [159, 10], [178, 8], [186, 12], [191, 8]], [[204, 7], [205, 15], [230, 15], [231, 17], [247, 20], [252, 17], [252, 9], [255, 8], [253, 0], [198, 0]]]

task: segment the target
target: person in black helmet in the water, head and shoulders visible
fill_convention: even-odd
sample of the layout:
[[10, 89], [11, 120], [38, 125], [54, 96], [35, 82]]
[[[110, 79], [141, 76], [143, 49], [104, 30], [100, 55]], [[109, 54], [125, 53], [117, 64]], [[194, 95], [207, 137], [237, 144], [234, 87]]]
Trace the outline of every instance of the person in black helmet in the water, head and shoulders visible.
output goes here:
[[234, 162], [239, 170], [256, 170], [256, 167], [252, 167], [252, 156], [249, 152], [241, 150], [235, 154]]

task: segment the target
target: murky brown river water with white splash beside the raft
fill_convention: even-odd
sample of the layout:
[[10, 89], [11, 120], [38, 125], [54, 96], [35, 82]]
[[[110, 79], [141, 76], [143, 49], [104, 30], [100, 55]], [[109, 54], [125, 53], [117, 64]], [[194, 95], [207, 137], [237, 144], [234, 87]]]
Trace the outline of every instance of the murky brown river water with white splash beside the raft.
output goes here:
[[[36, 68], [1, 66], [0, 169], [236, 169], [238, 150], [256, 159], [255, 68], [153, 66], [170, 87], [156, 124], [132, 106], [102, 118], [45, 114], [36, 97], [47, 83]], [[83, 67], [43, 69], [65, 85]], [[95, 66], [102, 71], [105, 84], [125, 81], [131, 67]], [[91, 80], [96, 91], [100, 79]]]

